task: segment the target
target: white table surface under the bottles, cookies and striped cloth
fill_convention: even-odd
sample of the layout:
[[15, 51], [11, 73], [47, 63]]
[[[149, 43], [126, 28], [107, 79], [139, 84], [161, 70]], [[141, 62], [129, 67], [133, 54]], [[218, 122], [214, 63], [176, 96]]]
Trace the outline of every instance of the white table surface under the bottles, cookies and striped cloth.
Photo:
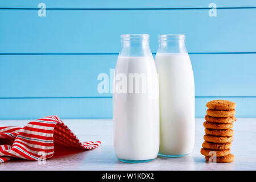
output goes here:
[[[23, 127], [29, 121], [0, 120], [1, 126]], [[55, 154], [46, 164], [28, 160], [11, 160], [0, 164], [0, 170], [256, 170], [256, 118], [238, 118], [234, 123], [232, 163], [205, 163], [200, 154], [203, 143], [203, 118], [196, 119], [196, 141], [192, 154], [182, 158], [157, 158], [148, 163], [127, 164], [119, 162], [113, 147], [113, 121], [111, 119], [63, 119], [81, 142], [102, 142], [90, 151]]]

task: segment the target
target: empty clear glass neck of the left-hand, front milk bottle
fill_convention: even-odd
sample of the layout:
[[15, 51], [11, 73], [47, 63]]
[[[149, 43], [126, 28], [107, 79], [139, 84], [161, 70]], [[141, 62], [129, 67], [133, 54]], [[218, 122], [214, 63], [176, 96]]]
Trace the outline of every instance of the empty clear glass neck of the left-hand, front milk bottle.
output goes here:
[[147, 34], [121, 35], [121, 43], [119, 56], [152, 56]]

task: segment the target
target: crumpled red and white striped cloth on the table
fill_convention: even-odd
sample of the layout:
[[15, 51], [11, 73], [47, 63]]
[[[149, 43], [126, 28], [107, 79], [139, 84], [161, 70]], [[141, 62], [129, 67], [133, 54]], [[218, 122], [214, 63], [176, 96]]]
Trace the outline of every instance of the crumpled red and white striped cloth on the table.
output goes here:
[[[0, 127], [0, 163], [13, 158], [42, 160], [54, 154], [54, 144], [90, 150], [101, 142], [80, 142], [56, 115], [29, 122], [25, 127]], [[43, 158], [42, 158], [43, 156]]]

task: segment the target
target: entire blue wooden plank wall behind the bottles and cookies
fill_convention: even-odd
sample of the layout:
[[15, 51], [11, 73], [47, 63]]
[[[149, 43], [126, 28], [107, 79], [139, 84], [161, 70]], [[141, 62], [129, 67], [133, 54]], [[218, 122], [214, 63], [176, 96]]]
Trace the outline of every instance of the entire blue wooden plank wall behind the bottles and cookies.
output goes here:
[[[46, 17], [38, 4], [46, 4]], [[185, 34], [205, 104], [237, 102], [237, 117], [256, 117], [256, 1], [27, 0], [0, 2], [0, 119], [112, 118], [112, 94], [100, 73], [115, 67], [121, 34]]]

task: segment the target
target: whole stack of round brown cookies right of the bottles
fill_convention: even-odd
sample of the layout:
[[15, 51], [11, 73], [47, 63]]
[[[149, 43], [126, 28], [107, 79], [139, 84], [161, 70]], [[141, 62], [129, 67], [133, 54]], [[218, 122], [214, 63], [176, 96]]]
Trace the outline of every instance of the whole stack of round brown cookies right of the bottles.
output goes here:
[[[209, 109], [207, 115], [205, 115], [205, 141], [202, 145], [203, 148], [201, 148], [201, 154], [205, 156], [207, 162], [233, 162], [234, 155], [230, 154], [230, 147], [234, 134], [232, 130], [233, 122], [237, 120], [234, 117], [236, 103], [214, 100], [208, 102], [206, 106]], [[214, 160], [215, 156], [216, 160]]]

